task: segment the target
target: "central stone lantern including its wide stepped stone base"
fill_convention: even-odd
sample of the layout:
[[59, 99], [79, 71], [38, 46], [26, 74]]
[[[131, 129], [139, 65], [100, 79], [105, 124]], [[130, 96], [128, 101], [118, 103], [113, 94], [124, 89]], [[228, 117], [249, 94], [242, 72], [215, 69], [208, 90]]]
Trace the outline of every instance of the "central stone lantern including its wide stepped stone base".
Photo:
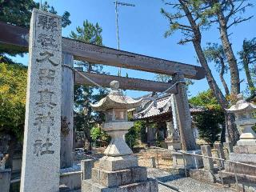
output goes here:
[[98, 166], [92, 169], [92, 178], [82, 181], [82, 191], [157, 192], [158, 182], [147, 178], [146, 167], [138, 166], [138, 158], [132, 155], [132, 150], [123, 139], [123, 135], [134, 125], [134, 122], [128, 122], [127, 110], [139, 106], [142, 100], [124, 96], [118, 90], [117, 81], [110, 82], [110, 86], [110, 94], [92, 107], [105, 112], [103, 130], [111, 136], [111, 142]]

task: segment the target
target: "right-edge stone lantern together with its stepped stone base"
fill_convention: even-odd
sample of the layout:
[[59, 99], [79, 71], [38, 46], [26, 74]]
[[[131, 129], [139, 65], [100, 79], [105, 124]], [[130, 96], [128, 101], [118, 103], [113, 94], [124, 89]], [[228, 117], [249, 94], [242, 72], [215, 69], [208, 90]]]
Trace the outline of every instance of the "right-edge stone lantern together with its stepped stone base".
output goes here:
[[[252, 126], [256, 123], [255, 110], [256, 105], [246, 102], [242, 94], [238, 94], [238, 102], [227, 110], [235, 114], [235, 123], [241, 132], [240, 139], [234, 146], [234, 153], [230, 153], [230, 161], [256, 165], [256, 134], [252, 130]], [[225, 171], [233, 173], [236, 171], [238, 174], [254, 176], [254, 182], [256, 182], [256, 168], [254, 167], [226, 162]]]

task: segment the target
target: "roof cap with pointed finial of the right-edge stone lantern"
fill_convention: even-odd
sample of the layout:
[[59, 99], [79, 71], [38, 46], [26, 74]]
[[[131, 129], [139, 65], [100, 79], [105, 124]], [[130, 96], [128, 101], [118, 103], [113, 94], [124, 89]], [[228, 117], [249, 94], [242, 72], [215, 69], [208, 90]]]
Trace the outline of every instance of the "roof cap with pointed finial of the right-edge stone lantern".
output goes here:
[[238, 102], [235, 105], [230, 106], [230, 109], [227, 109], [226, 111], [230, 113], [234, 113], [234, 112], [239, 112], [244, 110], [256, 110], [256, 105], [250, 102], [246, 102], [242, 94], [238, 94], [237, 97], [238, 97]]

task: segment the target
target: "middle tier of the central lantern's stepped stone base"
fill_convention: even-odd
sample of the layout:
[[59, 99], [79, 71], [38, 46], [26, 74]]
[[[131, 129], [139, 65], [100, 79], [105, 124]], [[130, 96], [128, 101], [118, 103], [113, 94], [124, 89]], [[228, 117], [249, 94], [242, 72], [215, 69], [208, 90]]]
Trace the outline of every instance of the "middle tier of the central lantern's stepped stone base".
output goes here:
[[132, 182], [144, 182], [147, 180], [146, 167], [137, 166], [126, 170], [102, 170], [92, 169], [92, 181], [102, 186], [123, 186]]

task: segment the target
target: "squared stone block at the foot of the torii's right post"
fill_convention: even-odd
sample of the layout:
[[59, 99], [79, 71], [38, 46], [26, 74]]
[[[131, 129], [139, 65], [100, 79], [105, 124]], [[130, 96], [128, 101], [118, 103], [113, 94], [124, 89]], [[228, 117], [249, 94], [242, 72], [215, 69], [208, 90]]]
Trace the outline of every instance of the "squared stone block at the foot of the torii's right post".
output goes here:
[[[182, 154], [181, 152], [186, 152], [189, 154]], [[188, 150], [188, 151], [173, 151], [173, 167], [175, 169], [183, 169], [186, 167], [186, 169], [194, 169], [194, 168], [202, 168], [202, 157], [199, 156], [193, 156], [190, 154], [202, 154], [201, 150]]]

